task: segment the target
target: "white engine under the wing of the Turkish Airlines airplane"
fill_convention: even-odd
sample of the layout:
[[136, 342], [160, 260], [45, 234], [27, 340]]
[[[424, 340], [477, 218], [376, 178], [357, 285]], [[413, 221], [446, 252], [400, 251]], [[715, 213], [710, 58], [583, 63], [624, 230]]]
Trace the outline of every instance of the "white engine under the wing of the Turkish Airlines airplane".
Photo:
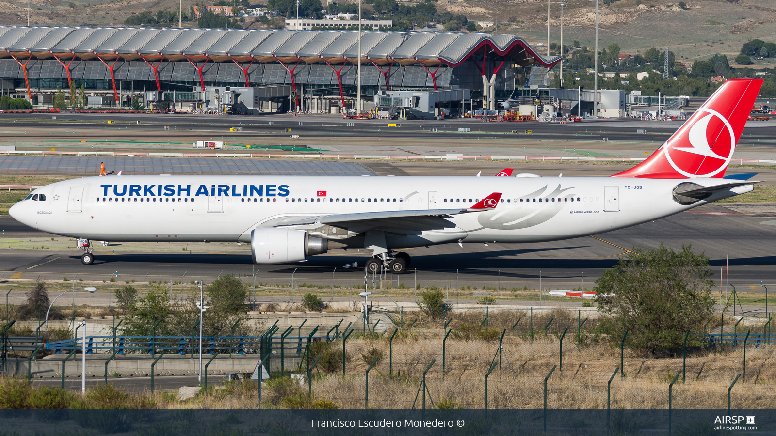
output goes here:
[[328, 245], [328, 240], [310, 237], [305, 230], [277, 227], [251, 230], [251, 255], [255, 264], [303, 261], [307, 256], [326, 253]]

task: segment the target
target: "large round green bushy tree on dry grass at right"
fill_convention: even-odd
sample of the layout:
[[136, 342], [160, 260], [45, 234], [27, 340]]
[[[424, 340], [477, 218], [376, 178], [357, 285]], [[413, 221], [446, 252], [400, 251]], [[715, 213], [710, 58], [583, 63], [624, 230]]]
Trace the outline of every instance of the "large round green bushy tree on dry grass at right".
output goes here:
[[[596, 280], [598, 310], [609, 316], [598, 328], [613, 344], [628, 330], [629, 348], [658, 355], [677, 351], [687, 331], [701, 333], [714, 314], [712, 274], [708, 258], [690, 246], [634, 249]], [[701, 346], [702, 335], [688, 344]]]

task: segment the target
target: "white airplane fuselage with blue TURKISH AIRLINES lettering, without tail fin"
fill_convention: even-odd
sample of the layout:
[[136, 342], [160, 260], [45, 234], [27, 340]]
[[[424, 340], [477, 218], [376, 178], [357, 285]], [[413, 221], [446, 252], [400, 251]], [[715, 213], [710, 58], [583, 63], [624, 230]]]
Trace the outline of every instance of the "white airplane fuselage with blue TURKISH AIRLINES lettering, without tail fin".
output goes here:
[[[23, 200], [10, 213], [30, 227], [89, 240], [250, 242], [252, 229], [278, 222], [283, 216], [466, 209], [491, 192], [502, 192], [496, 209], [450, 216], [447, 220], [455, 228], [415, 232], [423, 239], [412, 244], [519, 243], [600, 234], [707, 202], [683, 206], [675, 201], [672, 191], [684, 182], [711, 186], [725, 181], [125, 175], [56, 182], [33, 192], [43, 194], [46, 200]], [[740, 188], [725, 196], [750, 190]], [[403, 231], [397, 229], [399, 234]], [[407, 246], [406, 242], [393, 244]]]

